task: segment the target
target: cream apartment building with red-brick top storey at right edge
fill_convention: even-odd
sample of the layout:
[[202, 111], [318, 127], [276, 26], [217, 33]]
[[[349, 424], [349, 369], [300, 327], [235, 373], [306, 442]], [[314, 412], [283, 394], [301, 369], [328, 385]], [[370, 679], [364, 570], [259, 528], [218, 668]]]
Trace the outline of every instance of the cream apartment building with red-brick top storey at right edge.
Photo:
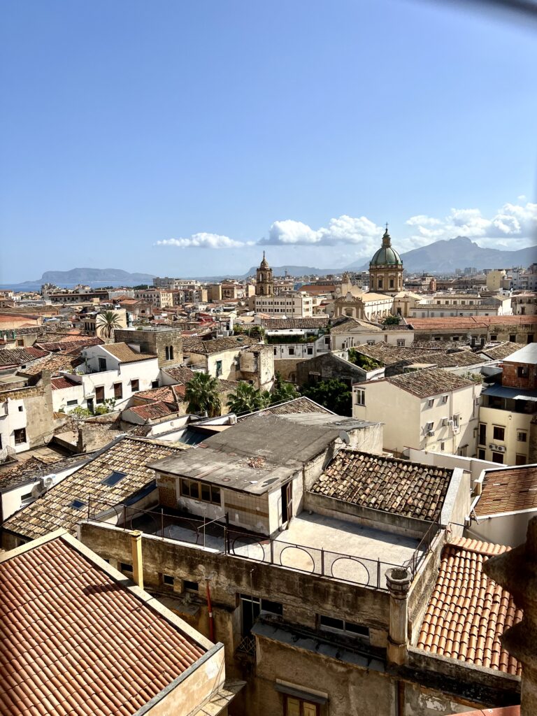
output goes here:
[[537, 344], [511, 353], [500, 380], [483, 387], [479, 409], [478, 458], [499, 465], [536, 459]]

